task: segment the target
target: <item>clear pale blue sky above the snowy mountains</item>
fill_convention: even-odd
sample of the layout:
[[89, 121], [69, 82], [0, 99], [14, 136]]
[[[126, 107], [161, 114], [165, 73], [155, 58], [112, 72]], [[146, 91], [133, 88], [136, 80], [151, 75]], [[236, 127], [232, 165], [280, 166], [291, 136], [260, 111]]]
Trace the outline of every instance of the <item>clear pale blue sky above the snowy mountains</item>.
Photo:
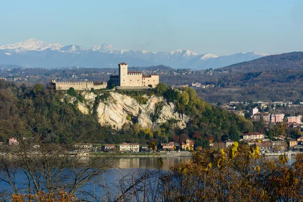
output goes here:
[[0, 45], [37, 38], [90, 48], [230, 55], [303, 51], [303, 1], [1, 1]]

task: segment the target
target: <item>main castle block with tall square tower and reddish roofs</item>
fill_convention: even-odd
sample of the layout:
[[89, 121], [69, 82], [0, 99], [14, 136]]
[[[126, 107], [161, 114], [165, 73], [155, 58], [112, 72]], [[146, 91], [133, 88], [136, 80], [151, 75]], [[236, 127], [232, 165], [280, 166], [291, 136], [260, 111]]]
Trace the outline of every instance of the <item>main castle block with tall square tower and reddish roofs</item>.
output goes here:
[[126, 63], [120, 63], [119, 65], [119, 75], [111, 75], [109, 80], [109, 85], [115, 84], [116, 86], [131, 88], [131, 87], [148, 87], [151, 85], [156, 87], [159, 83], [159, 75], [151, 74], [144, 75], [139, 71], [127, 71], [128, 65]]

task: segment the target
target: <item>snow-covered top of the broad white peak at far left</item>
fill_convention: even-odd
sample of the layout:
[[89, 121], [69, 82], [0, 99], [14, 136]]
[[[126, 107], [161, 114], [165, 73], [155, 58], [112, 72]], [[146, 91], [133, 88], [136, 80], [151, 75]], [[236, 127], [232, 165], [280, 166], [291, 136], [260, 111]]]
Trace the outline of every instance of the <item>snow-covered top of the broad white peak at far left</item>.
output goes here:
[[7, 44], [0, 46], [0, 49], [17, 49], [16, 52], [19, 50], [25, 51], [44, 51], [46, 48], [52, 48], [58, 50], [62, 47], [59, 43], [47, 43], [45, 41], [39, 41], [35, 38], [30, 38], [23, 42]]

